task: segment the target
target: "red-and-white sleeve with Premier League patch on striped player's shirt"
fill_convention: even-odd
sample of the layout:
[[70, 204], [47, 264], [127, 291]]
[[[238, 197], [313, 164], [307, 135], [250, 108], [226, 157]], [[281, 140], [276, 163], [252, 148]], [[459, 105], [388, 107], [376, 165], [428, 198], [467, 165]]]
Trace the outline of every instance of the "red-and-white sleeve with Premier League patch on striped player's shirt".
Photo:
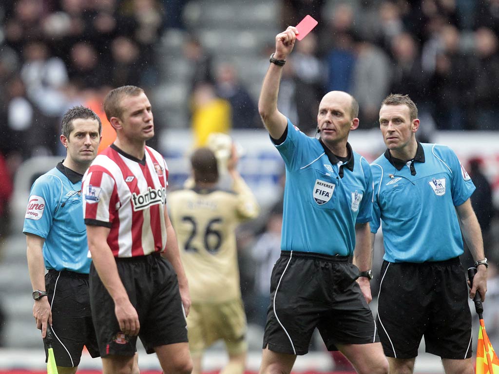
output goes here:
[[85, 224], [111, 227], [119, 208], [116, 183], [105, 170], [92, 168], [82, 184]]

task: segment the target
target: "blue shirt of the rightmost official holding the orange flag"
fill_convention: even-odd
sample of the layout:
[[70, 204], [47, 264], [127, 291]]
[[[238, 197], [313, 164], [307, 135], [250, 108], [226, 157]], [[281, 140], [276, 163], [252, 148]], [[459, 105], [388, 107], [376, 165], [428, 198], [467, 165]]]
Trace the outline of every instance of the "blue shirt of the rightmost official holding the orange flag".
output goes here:
[[468, 200], [475, 185], [449, 147], [418, 143], [407, 163], [387, 150], [371, 171], [371, 232], [381, 220], [386, 261], [445, 261], [464, 252], [455, 206]]

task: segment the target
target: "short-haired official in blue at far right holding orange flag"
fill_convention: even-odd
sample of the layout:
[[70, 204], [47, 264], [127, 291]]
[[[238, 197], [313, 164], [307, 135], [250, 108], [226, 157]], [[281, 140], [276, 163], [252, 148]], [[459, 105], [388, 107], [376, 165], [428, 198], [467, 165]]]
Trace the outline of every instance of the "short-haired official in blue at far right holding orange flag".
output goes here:
[[418, 109], [407, 95], [379, 112], [386, 152], [371, 164], [372, 241], [385, 246], [377, 325], [390, 373], [412, 373], [421, 338], [447, 374], [474, 373], [468, 286], [459, 256], [464, 236], [478, 273], [470, 297], [485, 300], [487, 259], [470, 196], [475, 186], [447, 146], [416, 140]]

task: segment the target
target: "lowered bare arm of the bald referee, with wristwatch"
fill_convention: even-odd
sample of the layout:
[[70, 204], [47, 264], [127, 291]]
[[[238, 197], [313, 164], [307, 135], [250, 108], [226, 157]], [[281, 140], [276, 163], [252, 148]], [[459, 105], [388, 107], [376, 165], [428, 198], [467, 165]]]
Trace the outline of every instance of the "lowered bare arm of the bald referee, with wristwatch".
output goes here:
[[[353, 250], [353, 263], [360, 271], [371, 269], [373, 258], [373, 246], [371, 245], [371, 230], [369, 223], [357, 223], [355, 225], [355, 249]], [[360, 289], [367, 303], [372, 301], [371, 284], [366, 277], [357, 279]]]

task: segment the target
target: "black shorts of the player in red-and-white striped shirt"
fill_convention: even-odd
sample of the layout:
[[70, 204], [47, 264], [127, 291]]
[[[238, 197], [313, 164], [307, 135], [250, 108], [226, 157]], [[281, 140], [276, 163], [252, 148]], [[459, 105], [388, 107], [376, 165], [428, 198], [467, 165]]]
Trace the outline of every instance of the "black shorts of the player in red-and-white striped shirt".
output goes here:
[[[187, 343], [187, 323], [180, 297], [177, 274], [159, 253], [116, 258], [116, 266], [130, 302], [137, 310], [139, 337], [146, 352], [154, 348]], [[133, 356], [137, 336], [125, 335], [114, 312], [114, 301], [90, 265], [90, 303], [102, 357]]]

